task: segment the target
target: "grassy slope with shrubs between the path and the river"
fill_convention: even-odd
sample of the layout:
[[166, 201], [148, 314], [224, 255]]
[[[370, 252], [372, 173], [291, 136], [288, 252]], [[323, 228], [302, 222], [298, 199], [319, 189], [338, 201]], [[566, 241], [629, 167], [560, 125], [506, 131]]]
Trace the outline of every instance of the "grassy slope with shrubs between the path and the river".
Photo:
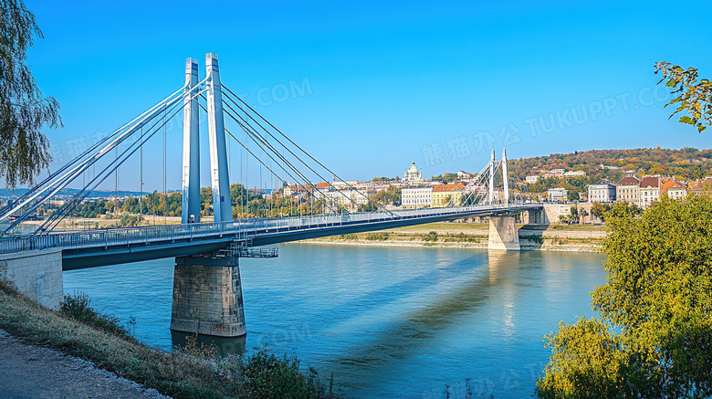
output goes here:
[[176, 398], [340, 397], [332, 382], [321, 383], [311, 368], [303, 371], [295, 357], [259, 350], [218, 359], [214, 348], [195, 344], [161, 352], [133, 339], [118, 319], [91, 309], [86, 296], [69, 298], [62, 310], [47, 310], [0, 280], [0, 328]]

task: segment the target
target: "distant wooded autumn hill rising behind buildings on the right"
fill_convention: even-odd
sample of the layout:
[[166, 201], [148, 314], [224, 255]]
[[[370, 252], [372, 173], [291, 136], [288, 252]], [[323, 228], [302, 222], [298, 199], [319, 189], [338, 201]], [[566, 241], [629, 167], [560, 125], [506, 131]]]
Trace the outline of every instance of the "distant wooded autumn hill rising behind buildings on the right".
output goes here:
[[[615, 183], [629, 170], [638, 176], [661, 174], [675, 176], [678, 180], [692, 180], [712, 174], [712, 150], [697, 150], [691, 147], [681, 150], [660, 147], [590, 150], [521, 158], [510, 163], [522, 180], [527, 174], [551, 169], [584, 171], [586, 180], [592, 183], [599, 183], [602, 178]], [[601, 165], [607, 167], [602, 168]]]

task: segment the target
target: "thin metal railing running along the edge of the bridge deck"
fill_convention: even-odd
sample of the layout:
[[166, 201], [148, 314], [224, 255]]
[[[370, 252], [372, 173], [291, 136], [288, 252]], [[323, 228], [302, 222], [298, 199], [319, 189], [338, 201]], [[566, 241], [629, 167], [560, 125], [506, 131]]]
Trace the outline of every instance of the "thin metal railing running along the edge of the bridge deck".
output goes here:
[[[188, 224], [169, 226], [120, 227], [88, 230], [74, 233], [53, 233], [41, 236], [19, 236], [0, 239], [0, 253], [30, 249], [149, 245], [155, 242], [185, 240], [227, 235], [231, 239], [246, 239], [264, 234], [312, 230], [330, 226], [379, 223], [394, 219], [412, 219], [442, 215], [467, 215], [474, 212], [495, 211], [512, 205], [471, 205], [450, 208], [424, 208], [417, 210], [362, 212], [341, 215], [301, 215], [262, 219], [243, 219], [224, 223]], [[393, 216], [395, 215], [395, 216]]]

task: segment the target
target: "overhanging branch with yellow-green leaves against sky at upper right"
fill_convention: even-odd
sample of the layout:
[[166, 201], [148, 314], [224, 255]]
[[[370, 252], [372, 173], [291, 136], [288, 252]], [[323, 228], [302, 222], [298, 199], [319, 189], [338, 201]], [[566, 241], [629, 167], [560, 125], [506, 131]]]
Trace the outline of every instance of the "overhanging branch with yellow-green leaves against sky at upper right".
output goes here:
[[677, 95], [665, 104], [665, 108], [677, 105], [670, 118], [678, 112], [686, 111], [689, 116], [680, 117], [680, 122], [695, 126], [700, 133], [707, 129], [706, 125], [712, 124], [712, 82], [707, 79], [697, 81], [696, 68], [684, 69], [669, 62], [655, 63], [655, 74], [658, 72], [663, 74], [663, 79], [657, 83], [667, 79], [665, 87], [672, 88], [672, 93]]

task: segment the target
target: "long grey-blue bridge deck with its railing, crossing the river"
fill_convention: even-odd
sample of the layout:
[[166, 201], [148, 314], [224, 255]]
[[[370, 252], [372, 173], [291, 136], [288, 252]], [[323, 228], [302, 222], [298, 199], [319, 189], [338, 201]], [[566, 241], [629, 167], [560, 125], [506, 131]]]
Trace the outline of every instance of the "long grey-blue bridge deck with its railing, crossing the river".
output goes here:
[[197, 255], [244, 241], [246, 247], [540, 209], [539, 204], [430, 208], [344, 215], [235, 220], [219, 224], [124, 227], [0, 239], [0, 253], [61, 248], [65, 270]]

